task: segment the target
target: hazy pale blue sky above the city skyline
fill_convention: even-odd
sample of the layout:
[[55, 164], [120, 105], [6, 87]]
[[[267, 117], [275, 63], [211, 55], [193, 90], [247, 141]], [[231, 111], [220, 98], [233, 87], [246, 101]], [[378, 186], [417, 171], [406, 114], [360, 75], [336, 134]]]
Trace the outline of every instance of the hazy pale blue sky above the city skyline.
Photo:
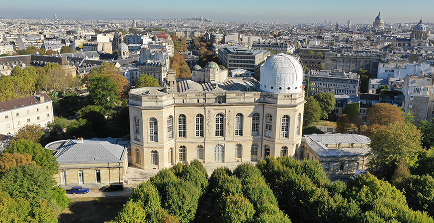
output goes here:
[[1, 0], [0, 17], [59, 19], [167, 19], [199, 17], [224, 21], [372, 23], [434, 22], [432, 0]]

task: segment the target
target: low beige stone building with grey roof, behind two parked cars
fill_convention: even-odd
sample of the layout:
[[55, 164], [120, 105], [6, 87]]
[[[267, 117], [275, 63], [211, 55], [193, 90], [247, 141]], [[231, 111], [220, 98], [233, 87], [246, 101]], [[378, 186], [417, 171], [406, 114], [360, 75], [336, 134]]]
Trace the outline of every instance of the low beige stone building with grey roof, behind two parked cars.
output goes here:
[[128, 167], [129, 141], [121, 138], [60, 140], [49, 143], [59, 162], [58, 185], [122, 182]]

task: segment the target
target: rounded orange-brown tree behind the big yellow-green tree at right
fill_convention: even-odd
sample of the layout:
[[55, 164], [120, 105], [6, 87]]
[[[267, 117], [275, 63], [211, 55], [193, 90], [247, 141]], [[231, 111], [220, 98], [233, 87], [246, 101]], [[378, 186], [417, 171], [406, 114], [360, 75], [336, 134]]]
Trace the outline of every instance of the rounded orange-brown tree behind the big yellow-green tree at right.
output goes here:
[[402, 111], [393, 105], [378, 103], [366, 111], [368, 124], [388, 125], [392, 122], [404, 122]]

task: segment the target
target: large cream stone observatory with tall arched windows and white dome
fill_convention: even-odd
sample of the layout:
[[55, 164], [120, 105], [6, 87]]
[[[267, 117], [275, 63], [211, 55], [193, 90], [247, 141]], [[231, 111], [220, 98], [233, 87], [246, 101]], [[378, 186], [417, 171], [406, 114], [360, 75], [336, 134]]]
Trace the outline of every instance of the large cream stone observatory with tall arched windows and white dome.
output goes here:
[[[196, 75], [196, 76], [194, 76]], [[275, 55], [261, 80], [228, 77], [214, 62], [193, 67], [174, 88], [129, 92], [131, 162], [161, 169], [198, 159], [203, 163], [300, 156], [303, 69], [293, 56]]]

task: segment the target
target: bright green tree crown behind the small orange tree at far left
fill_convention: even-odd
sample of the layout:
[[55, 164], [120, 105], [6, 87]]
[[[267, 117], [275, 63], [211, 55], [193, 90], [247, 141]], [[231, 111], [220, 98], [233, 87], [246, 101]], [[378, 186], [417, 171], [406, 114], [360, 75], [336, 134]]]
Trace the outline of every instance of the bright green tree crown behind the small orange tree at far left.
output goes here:
[[36, 165], [46, 169], [51, 175], [58, 172], [59, 164], [56, 158], [50, 150], [45, 149], [39, 143], [22, 139], [11, 143], [8, 148], [4, 149], [4, 152], [29, 154]]

